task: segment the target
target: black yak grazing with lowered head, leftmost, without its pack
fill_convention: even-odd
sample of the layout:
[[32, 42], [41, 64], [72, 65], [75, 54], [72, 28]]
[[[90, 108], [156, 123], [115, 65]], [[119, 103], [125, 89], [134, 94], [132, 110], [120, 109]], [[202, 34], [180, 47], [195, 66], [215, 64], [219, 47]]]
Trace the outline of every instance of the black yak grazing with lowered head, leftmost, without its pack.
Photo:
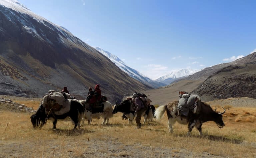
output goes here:
[[64, 113], [62, 115], [56, 115], [54, 111], [46, 113], [45, 108], [41, 105], [38, 108], [37, 112], [33, 114], [30, 118], [34, 128], [41, 128], [46, 123], [47, 119], [52, 117], [54, 118], [53, 129], [56, 129], [57, 119], [65, 119], [69, 116], [75, 124], [73, 129], [76, 129], [77, 125], [78, 128], [80, 128], [80, 122], [82, 120], [83, 113], [83, 105], [79, 101], [72, 100], [70, 103], [70, 111], [68, 111], [67, 113]]

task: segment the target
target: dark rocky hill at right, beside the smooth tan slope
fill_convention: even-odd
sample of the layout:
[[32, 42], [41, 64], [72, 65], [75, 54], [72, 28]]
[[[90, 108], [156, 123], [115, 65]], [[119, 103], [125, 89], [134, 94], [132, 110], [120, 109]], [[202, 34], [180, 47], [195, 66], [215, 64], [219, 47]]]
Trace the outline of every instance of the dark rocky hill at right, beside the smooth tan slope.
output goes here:
[[231, 97], [256, 98], [256, 53], [224, 65], [228, 66], [214, 72], [192, 93], [199, 94], [205, 101]]

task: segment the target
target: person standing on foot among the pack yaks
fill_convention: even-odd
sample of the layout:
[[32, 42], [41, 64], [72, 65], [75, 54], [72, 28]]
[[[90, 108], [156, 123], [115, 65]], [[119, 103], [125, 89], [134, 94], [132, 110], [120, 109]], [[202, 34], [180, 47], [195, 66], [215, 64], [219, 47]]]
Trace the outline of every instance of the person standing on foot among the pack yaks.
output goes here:
[[136, 129], [139, 129], [141, 128], [140, 119], [141, 119], [142, 113], [146, 111], [146, 109], [143, 101], [141, 100], [140, 96], [137, 95], [137, 93], [134, 94], [133, 97], [135, 98], [134, 103], [135, 103], [135, 113], [136, 113], [135, 118], [136, 118], [136, 124], [137, 124]]

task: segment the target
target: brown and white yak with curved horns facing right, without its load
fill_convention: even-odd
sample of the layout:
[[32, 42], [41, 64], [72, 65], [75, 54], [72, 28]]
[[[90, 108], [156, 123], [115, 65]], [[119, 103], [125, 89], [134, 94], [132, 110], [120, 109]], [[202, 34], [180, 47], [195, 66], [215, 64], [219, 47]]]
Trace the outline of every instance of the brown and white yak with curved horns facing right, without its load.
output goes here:
[[202, 135], [202, 124], [207, 121], [214, 121], [219, 128], [223, 128], [225, 126], [222, 114], [224, 112], [218, 113], [215, 110], [213, 110], [209, 104], [206, 104], [202, 102], [200, 99], [198, 100], [198, 105], [201, 107], [199, 114], [194, 114], [193, 112], [189, 112], [189, 115], [186, 117], [181, 114], [181, 112], [177, 109], [179, 101], [174, 101], [172, 103], [169, 103], [167, 105], [159, 106], [154, 113], [154, 116], [157, 120], [159, 120], [164, 112], [166, 111], [167, 118], [168, 118], [168, 127], [169, 127], [169, 133], [173, 133], [172, 125], [177, 121], [180, 124], [188, 124], [188, 135], [190, 135], [193, 127], [195, 126], [200, 136]]

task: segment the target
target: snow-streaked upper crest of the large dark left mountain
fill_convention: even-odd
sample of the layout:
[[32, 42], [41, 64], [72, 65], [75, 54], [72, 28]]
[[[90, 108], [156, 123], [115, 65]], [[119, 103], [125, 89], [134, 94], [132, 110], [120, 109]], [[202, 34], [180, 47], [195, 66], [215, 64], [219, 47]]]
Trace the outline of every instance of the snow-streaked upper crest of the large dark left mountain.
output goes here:
[[[45, 37], [44, 32], [42, 30], [35, 28], [31, 21], [27, 20], [27, 16], [33, 18], [38, 23], [45, 25], [49, 29], [53, 30], [53, 32], [57, 32], [59, 35], [59, 41], [65, 43], [67, 47], [68, 45], [70, 45], [71, 42], [74, 45], [82, 45], [87, 50], [92, 50], [92, 48], [89, 45], [84, 43], [79, 38], [75, 37], [66, 28], [56, 25], [48, 21], [47, 19], [36, 15], [35, 13], [33, 13], [31, 10], [29, 10], [23, 4], [19, 3], [16, 0], [0, 0], [0, 6], [2, 6], [2, 12], [5, 14], [5, 16], [8, 18], [10, 22], [15, 24], [15, 20], [17, 19], [18, 22], [22, 24], [22, 29], [26, 30], [32, 36], [38, 37], [42, 41], [52, 44], [50, 42], [51, 40]], [[19, 16], [17, 16], [17, 13], [20, 13], [18, 14]]]

